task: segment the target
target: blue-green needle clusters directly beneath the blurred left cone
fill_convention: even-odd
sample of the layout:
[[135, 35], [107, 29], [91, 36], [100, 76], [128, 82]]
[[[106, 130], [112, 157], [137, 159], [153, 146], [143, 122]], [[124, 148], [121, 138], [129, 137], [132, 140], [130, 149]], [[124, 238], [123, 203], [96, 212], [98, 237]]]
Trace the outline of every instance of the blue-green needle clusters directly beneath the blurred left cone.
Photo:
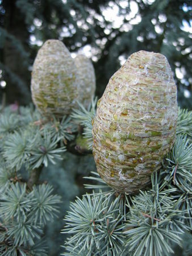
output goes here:
[[41, 119], [39, 113], [30, 108], [20, 108], [19, 113], [6, 109], [0, 120], [3, 157], [9, 167], [17, 171], [23, 165], [32, 170], [62, 159], [64, 143], [74, 138], [75, 128], [70, 118], [49, 121]]

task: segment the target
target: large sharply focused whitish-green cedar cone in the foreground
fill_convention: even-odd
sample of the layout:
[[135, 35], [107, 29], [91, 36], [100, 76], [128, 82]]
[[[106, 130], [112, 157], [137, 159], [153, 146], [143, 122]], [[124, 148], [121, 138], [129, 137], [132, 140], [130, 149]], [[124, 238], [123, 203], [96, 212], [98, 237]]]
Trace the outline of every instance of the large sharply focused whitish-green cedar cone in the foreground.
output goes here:
[[102, 179], [136, 193], [161, 168], [177, 125], [177, 88], [166, 58], [139, 51], [111, 77], [98, 101], [93, 154]]

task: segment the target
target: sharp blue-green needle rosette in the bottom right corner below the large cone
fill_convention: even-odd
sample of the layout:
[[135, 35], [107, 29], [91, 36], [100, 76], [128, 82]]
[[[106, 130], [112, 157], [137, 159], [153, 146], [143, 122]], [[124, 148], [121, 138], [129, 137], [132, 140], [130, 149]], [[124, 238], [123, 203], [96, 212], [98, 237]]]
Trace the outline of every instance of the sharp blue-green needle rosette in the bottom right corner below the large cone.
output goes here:
[[[154, 177], [155, 176], [155, 177]], [[160, 176], [161, 177], [161, 174]], [[187, 230], [181, 199], [173, 200], [172, 189], [159, 188], [157, 174], [152, 175], [152, 189], [131, 198], [126, 227], [129, 251], [133, 255], [169, 255], [172, 243], [181, 245], [180, 235]]]

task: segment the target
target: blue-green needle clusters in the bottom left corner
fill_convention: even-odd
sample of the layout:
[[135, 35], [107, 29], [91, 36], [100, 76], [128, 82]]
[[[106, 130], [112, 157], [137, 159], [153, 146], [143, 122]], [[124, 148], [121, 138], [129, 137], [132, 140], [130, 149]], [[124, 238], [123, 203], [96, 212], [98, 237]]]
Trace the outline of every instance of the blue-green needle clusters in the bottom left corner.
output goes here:
[[53, 221], [58, 212], [60, 197], [51, 195], [52, 191], [53, 188], [45, 184], [32, 191], [26, 183], [10, 183], [5, 187], [0, 197], [1, 255], [11, 256], [14, 252], [21, 253], [22, 249], [21, 255], [27, 255], [27, 248], [40, 240], [44, 225]]

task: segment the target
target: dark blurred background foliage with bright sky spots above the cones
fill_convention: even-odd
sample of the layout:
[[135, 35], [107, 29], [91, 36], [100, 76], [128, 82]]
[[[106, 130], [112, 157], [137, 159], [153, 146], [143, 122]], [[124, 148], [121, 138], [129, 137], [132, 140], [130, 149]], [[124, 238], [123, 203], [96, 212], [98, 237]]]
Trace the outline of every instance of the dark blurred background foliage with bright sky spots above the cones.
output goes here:
[[[178, 101], [191, 101], [190, 0], [0, 0], [1, 97], [26, 105], [37, 50], [47, 39], [60, 39], [76, 56], [94, 63], [97, 96], [131, 53], [164, 54], [178, 86]], [[5, 86], [6, 85], [6, 86]]]

